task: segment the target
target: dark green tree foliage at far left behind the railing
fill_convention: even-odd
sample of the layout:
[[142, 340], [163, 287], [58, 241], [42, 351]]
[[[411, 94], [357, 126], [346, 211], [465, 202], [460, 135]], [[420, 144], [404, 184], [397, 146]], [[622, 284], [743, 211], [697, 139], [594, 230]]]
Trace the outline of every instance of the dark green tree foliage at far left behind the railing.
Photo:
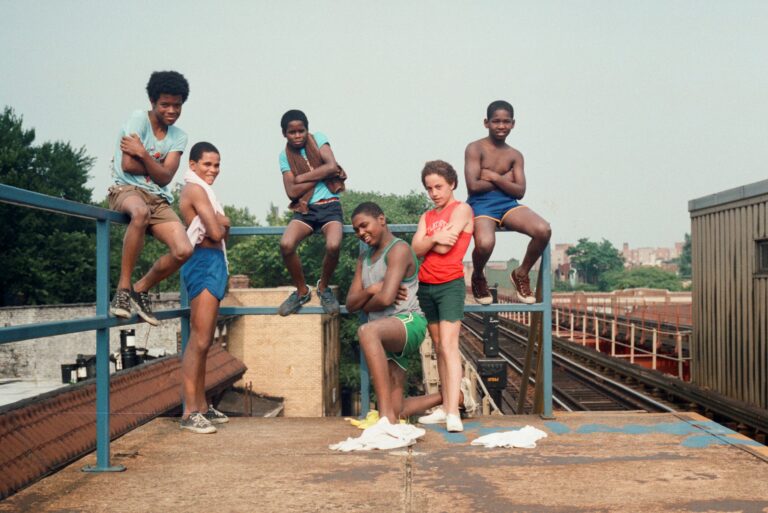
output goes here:
[[[0, 115], [0, 182], [81, 203], [93, 159], [69, 143], [34, 145], [34, 129], [6, 107]], [[0, 204], [0, 304], [54, 304], [95, 299], [93, 221]]]

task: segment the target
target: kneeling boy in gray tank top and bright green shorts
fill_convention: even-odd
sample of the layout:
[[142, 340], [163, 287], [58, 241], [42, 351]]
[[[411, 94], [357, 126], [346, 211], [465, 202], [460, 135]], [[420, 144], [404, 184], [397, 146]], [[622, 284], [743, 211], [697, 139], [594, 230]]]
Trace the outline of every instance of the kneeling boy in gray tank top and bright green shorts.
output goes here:
[[376, 203], [358, 205], [352, 227], [369, 250], [357, 261], [347, 310], [368, 314], [357, 335], [376, 390], [379, 422], [395, 424], [442, 402], [439, 393], [403, 400], [407, 357], [419, 351], [427, 329], [416, 297], [419, 262], [408, 243], [389, 231]]

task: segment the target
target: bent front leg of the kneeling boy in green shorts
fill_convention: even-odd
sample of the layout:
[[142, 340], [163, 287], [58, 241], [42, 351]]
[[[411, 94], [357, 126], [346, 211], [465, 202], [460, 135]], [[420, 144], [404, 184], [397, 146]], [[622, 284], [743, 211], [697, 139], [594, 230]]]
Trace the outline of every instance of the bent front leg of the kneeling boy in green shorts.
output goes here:
[[379, 416], [395, 423], [399, 411], [395, 411], [392, 404], [389, 364], [385, 351], [399, 353], [403, 350], [406, 340], [405, 326], [394, 317], [379, 319], [360, 326], [357, 336], [368, 363], [373, 388], [376, 390]]

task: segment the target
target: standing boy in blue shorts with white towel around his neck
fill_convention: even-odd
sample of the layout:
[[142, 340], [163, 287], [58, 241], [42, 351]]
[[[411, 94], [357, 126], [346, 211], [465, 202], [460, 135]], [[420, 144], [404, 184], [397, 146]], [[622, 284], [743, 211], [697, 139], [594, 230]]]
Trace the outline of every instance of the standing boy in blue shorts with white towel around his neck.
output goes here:
[[189, 152], [189, 170], [184, 175], [180, 208], [189, 228], [189, 242], [195, 245], [192, 257], [181, 268], [190, 301], [189, 343], [181, 363], [184, 413], [181, 429], [193, 433], [215, 433], [213, 424], [228, 422], [226, 415], [205, 398], [205, 363], [213, 341], [219, 302], [227, 287], [229, 218], [211, 185], [219, 175], [219, 150], [199, 142]]

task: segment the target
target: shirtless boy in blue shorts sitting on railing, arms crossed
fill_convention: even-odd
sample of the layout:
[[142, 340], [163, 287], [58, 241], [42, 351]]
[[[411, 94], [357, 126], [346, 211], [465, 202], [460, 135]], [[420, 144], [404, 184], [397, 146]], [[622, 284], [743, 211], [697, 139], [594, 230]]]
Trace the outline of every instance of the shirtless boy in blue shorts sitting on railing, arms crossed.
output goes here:
[[525, 195], [523, 155], [506, 143], [515, 126], [512, 105], [497, 100], [488, 106], [483, 121], [488, 136], [467, 145], [464, 175], [475, 215], [475, 249], [472, 252], [472, 295], [480, 304], [492, 301], [484, 268], [496, 244], [496, 228], [524, 233], [531, 238], [520, 266], [510, 280], [523, 303], [536, 301], [528, 273], [549, 243], [549, 223], [518, 201]]

